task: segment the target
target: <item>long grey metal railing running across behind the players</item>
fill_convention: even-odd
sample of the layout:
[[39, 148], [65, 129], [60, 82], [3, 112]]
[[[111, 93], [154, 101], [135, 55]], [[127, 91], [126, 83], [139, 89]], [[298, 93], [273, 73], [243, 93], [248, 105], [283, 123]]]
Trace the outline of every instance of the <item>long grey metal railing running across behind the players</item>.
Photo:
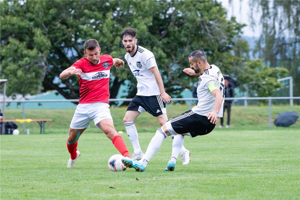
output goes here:
[[[233, 97], [233, 98], [226, 98], [226, 100], [268, 100], [268, 107], [269, 107], [269, 128], [271, 128], [271, 101], [275, 99], [298, 99], [300, 97]], [[113, 101], [131, 101], [132, 99], [110, 99], [109, 102]], [[190, 109], [192, 109], [192, 102], [198, 100], [197, 98], [172, 98], [171, 101], [189, 101]], [[79, 102], [78, 99], [59, 99], [59, 100], [6, 100], [5, 103], [22, 103], [22, 110], [23, 110], [23, 119], [25, 119], [25, 103], [29, 102]], [[3, 104], [3, 102], [1, 102]], [[5, 106], [5, 105], [3, 105]], [[291, 103], [292, 106], [292, 103]], [[3, 116], [4, 117], [4, 116]], [[4, 118], [3, 118], [4, 119]], [[23, 123], [23, 132], [25, 132], [25, 122]]]

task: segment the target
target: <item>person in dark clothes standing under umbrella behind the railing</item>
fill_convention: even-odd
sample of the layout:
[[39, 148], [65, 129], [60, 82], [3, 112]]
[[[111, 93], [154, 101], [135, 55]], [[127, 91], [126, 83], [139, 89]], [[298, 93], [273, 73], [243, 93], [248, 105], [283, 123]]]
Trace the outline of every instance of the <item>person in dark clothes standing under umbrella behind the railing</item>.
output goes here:
[[[224, 105], [223, 105], [223, 116], [225, 113], [225, 109], [227, 109], [227, 124], [226, 124], [226, 128], [229, 127], [230, 124], [230, 110], [231, 110], [231, 103], [232, 100], [226, 100], [226, 98], [229, 97], [234, 97], [234, 90], [233, 87], [229, 84], [228, 79], [225, 78], [225, 101], [224, 101]], [[219, 128], [223, 127], [223, 117], [221, 117], [221, 125], [219, 126]]]

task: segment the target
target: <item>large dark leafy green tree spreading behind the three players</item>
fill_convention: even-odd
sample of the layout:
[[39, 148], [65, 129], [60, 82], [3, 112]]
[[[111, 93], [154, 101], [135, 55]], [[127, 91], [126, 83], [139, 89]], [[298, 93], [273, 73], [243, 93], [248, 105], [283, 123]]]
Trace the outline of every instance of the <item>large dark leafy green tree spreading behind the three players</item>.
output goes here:
[[[182, 72], [196, 49], [223, 73], [238, 76], [248, 46], [240, 39], [243, 24], [226, 19], [217, 1], [1, 1], [1, 77], [7, 94], [36, 94], [55, 89], [67, 99], [79, 97], [78, 77], [59, 74], [82, 58], [85, 40], [97, 39], [101, 54], [124, 58], [121, 33], [137, 30], [138, 45], [151, 50], [166, 91], [179, 97], [197, 80]], [[111, 69], [110, 97], [127, 84], [128, 98], [136, 79], [128, 65]], [[273, 84], [273, 83], [270, 83]], [[258, 87], [260, 87], [258, 85]]]

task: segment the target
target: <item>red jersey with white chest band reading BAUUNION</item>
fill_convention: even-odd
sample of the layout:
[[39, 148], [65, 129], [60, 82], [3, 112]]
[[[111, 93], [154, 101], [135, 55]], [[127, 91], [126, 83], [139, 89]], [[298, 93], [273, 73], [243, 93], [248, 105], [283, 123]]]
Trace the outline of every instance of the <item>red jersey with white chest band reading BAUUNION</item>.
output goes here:
[[79, 103], [108, 103], [110, 98], [110, 68], [114, 64], [110, 55], [100, 55], [98, 64], [91, 64], [88, 58], [81, 58], [71, 67], [81, 69], [79, 76]]

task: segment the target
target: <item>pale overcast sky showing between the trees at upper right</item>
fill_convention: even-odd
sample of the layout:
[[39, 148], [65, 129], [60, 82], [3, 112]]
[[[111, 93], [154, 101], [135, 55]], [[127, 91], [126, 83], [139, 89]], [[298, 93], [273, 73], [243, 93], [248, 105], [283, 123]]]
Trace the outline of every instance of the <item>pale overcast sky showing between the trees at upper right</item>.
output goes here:
[[[249, 37], [259, 37], [261, 33], [261, 29], [259, 26], [255, 26], [255, 31], [252, 30], [250, 27], [250, 7], [249, 1], [246, 0], [232, 0], [231, 4], [229, 5], [228, 0], [217, 0], [222, 3], [223, 7], [228, 11], [228, 18], [231, 16], [236, 17], [236, 21], [247, 24], [242, 30], [244, 31], [245, 36]], [[259, 21], [259, 14], [256, 15], [256, 21]]]

